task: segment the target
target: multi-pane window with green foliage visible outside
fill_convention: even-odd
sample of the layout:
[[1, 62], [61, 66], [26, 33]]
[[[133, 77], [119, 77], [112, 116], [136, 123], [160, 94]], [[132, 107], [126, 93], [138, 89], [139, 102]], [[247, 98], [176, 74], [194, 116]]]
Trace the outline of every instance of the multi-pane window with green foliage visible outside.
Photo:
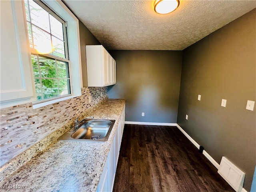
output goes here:
[[67, 23], [40, 1], [25, 8], [37, 101], [72, 94]]

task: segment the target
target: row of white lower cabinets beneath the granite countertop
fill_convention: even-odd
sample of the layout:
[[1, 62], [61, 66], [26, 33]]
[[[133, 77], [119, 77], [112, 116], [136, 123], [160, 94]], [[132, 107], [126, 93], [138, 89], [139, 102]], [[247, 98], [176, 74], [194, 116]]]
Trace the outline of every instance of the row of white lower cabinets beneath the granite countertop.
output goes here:
[[100, 177], [100, 181], [97, 187], [97, 192], [111, 192], [113, 190], [116, 167], [118, 163], [119, 150], [122, 141], [122, 133], [124, 130], [125, 108], [121, 114], [120, 121], [118, 123], [116, 134], [114, 136], [112, 145], [108, 152], [108, 157]]

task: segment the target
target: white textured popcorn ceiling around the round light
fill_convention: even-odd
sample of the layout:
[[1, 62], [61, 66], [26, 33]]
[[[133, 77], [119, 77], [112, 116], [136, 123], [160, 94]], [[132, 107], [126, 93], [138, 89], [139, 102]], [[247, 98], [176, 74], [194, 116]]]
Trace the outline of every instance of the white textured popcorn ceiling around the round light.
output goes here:
[[114, 50], [183, 50], [256, 8], [256, 0], [180, 0], [177, 10], [160, 15], [152, 0], [63, 2]]

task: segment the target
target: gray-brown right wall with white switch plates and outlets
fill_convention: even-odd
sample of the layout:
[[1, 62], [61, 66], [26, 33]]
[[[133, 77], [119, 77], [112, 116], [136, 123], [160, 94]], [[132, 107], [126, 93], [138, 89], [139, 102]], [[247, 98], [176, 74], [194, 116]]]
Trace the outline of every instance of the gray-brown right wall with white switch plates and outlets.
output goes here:
[[184, 50], [178, 110], [178, 124], [218, 163], [225, 156], [246, 173], [247, 191], [256, 164], [256, 106], [245, 109], [256, 101], [255, 18], [254, 9]]

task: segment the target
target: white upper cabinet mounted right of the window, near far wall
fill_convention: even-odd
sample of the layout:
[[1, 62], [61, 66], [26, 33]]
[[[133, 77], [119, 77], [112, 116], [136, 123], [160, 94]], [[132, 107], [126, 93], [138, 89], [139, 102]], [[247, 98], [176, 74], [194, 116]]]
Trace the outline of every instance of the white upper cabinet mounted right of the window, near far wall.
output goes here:
[[116, 84], [116, 61], [102, 45], [86, 45], [88, 87]]

